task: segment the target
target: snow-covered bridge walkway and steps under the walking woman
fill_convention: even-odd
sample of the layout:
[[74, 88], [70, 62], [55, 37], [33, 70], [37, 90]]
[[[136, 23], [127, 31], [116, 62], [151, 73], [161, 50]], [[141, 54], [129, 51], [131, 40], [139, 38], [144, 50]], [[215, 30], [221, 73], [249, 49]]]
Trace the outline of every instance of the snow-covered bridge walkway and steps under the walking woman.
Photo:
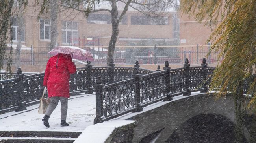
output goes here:
[[50, 142], [56, 141], [57, 143], [60, 140], [61, 142], [67, 140], [67, 142], [72, 143], [87, 126], [93, 125], [95, 94], [71, 96], [68, 105], [67, 122], [70, 125], [68, 127], [59, 125], [60, 103], [49, 119], [50, 128], [46, 128], [43, 125], [43, 115], [37, 113], [39, 104], [27, 107], [27, 110], [20, 112], [13, 111], [1, 114], [0, 134], [2, 136], [0, 135], [0, 140], [10, 139], [10, 141], [15, 141], [15, 139], [25, 139], [27, 142], [36, 143], [36, 141], [40, 142], [43, 139]]

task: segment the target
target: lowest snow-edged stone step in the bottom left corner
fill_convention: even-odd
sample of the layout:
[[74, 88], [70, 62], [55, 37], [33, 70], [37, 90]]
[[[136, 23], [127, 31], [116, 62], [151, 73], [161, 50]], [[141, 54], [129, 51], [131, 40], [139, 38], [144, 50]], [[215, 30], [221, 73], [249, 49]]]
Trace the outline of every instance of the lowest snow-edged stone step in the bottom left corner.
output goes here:
[[73, 143], [76, 138], [0, 137], [0, 143]]

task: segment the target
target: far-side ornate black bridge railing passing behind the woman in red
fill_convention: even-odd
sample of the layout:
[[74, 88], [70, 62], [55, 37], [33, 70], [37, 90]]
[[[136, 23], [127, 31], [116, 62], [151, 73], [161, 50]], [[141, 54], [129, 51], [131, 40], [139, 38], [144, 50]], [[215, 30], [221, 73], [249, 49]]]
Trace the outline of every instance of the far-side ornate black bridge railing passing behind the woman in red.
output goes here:
[[[87, 62], [86, 67], [79, 67], [76, 74], [70, 76], [70, 94], [91, 94], [95, 91], [96, 77], [102, 77], [102, 84], [108, 85], [132, 78], [134, 67], [116, 67], [111, 61], [109, 66], [93, 67]], [[141, 74], [154, 71], [139, 68]], [[0, 81], [0, 114], [12, 110], [25, 110], [26, 106], [38, 103], [43, 93], [44, 73], [24, 75], [21, 69], [17, 77]]]

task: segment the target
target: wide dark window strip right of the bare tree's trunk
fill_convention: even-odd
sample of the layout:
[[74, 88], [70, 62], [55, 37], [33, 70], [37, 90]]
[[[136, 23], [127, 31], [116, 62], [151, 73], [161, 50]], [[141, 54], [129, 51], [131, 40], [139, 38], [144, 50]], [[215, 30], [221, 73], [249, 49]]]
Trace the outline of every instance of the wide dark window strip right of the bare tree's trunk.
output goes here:
[[131, 16], [132, 25], [169, 25], [169, 17], [167, 16]]

